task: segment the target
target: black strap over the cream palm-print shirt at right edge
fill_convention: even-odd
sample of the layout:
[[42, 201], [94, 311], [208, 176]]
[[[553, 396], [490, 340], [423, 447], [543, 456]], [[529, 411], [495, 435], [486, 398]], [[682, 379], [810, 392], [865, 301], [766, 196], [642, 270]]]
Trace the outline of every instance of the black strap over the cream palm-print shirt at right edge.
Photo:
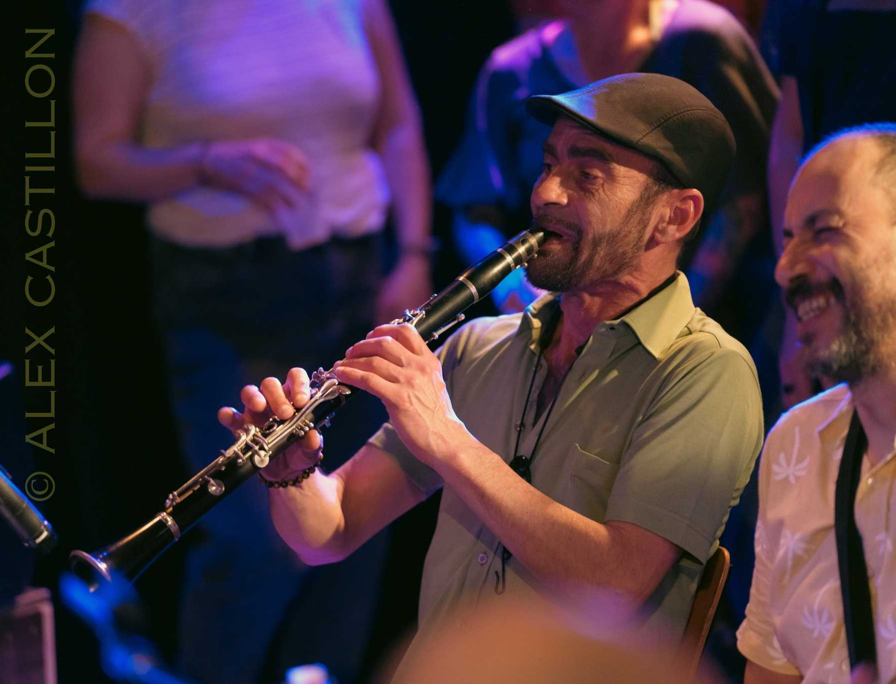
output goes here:
[[843, 597], [849, 665], [853, 669], [861, 662], [876, 662], [868, 568], [855, 516], [856, 490], [861, 479], [862, 455], [867, 446], [865, 429], [862, 428], [858, 412], [854, 411], [846, 445], [843, 446], [834, 494], [834, 532], [837, 537], [837, 564], [840, 567], [840, 593]]

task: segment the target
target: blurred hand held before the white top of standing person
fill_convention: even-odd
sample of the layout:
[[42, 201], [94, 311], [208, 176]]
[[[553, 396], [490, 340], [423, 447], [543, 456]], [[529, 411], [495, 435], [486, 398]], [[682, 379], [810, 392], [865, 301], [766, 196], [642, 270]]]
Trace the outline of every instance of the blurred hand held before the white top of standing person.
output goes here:
[[308, 160], [283, 140], [209, 143], [199, 168], [203, 185], [245, 195], [272, 214], [306, 201]]

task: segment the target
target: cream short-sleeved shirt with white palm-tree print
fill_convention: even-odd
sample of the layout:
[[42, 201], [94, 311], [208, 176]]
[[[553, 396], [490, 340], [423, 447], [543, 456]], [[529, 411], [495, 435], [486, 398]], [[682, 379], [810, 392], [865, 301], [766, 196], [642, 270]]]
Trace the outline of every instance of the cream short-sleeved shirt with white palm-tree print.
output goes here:
[[[837, 385], [785, 413], [759, 466], [756, 563], [737, 648], [767, 670], [849, 684], [834, 490], [854, 405]], [[856, 525], [868, 568], [879, 680], [896, 681], [896, 444], [865, 457]]]

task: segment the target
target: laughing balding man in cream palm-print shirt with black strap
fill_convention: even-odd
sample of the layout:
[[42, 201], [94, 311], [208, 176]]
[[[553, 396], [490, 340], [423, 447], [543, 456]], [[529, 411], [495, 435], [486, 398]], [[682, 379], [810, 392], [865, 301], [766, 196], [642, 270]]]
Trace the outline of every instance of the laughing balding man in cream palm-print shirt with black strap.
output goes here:
[[844, 384], [788, 411], [766, 441], [737, 632], [751, 684], [896, 680], [894, 188], [893, 124], [833, 135], [790, 188], [775, 276], [808, 363]]

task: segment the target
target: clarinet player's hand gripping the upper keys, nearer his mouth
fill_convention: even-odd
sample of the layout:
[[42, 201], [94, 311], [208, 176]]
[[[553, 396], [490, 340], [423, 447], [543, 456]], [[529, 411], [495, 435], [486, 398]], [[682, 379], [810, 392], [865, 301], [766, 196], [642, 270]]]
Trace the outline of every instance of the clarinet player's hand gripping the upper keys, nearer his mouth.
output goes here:
[[378, 397], [404, 445], [436, 470], [473, 439], [454, 413], [442, 364], [411, 325], [374, 328], [333, 370], [340, 382]]

